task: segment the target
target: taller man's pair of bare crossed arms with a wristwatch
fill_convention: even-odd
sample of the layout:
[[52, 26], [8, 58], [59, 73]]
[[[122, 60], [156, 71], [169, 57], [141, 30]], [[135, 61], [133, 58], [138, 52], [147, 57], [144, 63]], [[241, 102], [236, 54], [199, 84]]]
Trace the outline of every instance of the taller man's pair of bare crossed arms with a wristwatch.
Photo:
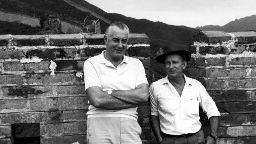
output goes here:
[[109, 110], [137, 107], [139, 103], [148, 100], [148, 85], [146, 83], [142, 83], [132, 90], [113, 90], [111, 95], [100, 87], [89, 87], [86, 92], [91, 105]]

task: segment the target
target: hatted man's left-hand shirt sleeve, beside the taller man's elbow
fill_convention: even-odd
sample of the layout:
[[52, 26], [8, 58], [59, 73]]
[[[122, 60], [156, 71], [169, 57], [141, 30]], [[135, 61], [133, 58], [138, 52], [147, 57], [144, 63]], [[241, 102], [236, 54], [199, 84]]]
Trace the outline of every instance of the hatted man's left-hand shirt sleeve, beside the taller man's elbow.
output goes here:
[[149, 87], [149, 99], [150, 99], [151, 115], [158, 116], [158, 101], [155, 95], [154, 86], [152, 84]]

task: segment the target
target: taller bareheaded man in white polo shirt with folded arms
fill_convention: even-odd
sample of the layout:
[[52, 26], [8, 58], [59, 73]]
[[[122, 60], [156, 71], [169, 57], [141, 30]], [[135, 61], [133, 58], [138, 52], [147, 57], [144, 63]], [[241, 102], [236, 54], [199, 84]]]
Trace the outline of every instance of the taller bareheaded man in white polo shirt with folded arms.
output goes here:
[[141, 144], [137, 105], [148, 100], [148, 81], [139, 61], [125, 56], [129, 28], [109, 24], [106, 50], [84, 63], [89, 98], [87, 144]]

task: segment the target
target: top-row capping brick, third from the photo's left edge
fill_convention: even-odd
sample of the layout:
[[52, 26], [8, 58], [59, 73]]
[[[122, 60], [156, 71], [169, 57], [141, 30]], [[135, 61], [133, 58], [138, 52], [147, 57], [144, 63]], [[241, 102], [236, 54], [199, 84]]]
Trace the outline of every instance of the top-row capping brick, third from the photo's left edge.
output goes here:
[[49, 35], [51, 46], [70, 46], [83, 44], [83, 35], [79, 33], [63, 34], [63, 35]]

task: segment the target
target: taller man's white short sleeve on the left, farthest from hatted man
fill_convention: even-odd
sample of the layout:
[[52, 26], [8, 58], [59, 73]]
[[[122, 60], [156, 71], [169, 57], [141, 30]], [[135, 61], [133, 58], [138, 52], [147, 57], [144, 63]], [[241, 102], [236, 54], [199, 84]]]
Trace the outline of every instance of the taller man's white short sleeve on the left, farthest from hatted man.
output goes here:
[[88, 59], [83, 64], [83, 73], [85, 90], [94, 86], [101, 87], [96, 69]]

